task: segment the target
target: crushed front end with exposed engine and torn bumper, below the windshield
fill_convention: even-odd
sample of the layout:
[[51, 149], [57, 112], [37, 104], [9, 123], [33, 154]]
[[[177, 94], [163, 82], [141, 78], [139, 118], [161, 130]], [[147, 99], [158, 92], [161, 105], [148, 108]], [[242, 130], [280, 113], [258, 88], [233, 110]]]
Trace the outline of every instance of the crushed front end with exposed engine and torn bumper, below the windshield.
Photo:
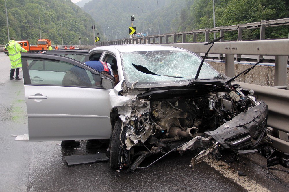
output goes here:
[[[127, 90], [127, 91], [125, 91]], [[124, 88], [124, 96], [132, 95]], [[206, 147], [190, 167], [220, 148], [253, 153], [266, 131], [268, 107], [252, 90], [226, 85], [150, 89], [118, 106], [119, 168], [134, 171], [147, 156]], [[264, 139], [263, 139], [264, 140]]]

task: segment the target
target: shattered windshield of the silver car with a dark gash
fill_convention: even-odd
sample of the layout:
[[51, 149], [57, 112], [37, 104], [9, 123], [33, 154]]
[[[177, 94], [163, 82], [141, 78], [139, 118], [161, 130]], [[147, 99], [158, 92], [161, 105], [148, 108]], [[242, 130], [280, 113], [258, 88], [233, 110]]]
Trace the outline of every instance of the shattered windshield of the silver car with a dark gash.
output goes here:
[[[177, 85], [189, 82], [196, 76], [201, 58], [188, 51], [135, 51], [121, 53], [123, 74], [128, 86]], [[199, 79], [216, 79], [219, 74], [208, 63], [204, 63]], [[142, 86], [143, 87], [143, 86]]]

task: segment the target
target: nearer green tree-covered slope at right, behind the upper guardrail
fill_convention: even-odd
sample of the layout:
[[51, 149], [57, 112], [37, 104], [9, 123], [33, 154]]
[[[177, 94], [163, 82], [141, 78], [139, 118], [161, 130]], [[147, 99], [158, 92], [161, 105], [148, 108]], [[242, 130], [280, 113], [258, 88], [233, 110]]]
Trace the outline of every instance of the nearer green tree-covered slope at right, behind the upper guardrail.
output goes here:
[[[216, 27], [288, 17], [288, 0], [215, 0]], [[178, 23], [178, 31], [212, 28], [213, 1], [194, 0], [189, 9], [181, 10], [174, 22]], [[266, 28], [265, 38], [288, 37], [288, 29], [288, 25]], [[259, 34], [260, 29], [243, 30], [243, 39], [259, 39]], [[225, 33], [225, 39], [236, 40], [237, 32]]]

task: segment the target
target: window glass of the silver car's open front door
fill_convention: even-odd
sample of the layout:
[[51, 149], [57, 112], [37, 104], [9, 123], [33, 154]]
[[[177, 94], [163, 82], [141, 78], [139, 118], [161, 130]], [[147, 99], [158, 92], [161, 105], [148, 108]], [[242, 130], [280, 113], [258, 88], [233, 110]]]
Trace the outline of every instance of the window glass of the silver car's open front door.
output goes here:
[[27, 60], [31, 84], [100, 87], [101, 77], [64, 61]]

